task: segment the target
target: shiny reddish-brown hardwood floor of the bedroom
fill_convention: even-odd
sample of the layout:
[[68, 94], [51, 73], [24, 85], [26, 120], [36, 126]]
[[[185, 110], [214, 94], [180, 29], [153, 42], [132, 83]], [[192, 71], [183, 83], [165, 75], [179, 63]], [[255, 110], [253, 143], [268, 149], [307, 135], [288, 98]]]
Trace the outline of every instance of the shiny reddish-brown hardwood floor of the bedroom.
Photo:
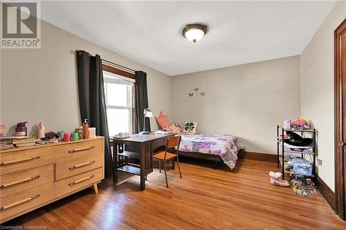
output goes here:
[[[209, 167], [208, 167], [209, 166]], [[272, 186], [268, 171], [276, 163], [240, 159], [227, 166], [181, 163], [165, 176], [148, 175], [145, 191], [139, 177], [113, 186], [99, 184], [98, 194], [86, 189], [4, 223], [41, 229], [346, 229], [320, 196], [295, 195], [291, 188]]]

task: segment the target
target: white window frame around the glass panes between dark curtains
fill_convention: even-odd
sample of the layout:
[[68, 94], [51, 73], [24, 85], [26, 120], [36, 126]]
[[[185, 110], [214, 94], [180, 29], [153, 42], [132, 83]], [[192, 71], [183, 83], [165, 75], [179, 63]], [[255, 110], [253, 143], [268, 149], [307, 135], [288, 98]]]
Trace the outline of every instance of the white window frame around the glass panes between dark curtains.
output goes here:
[[[111, 106], [107, 103], [106, 101], [106, 110], [108, 108], [113, 108], [113, 109], [127, 109], [129, 111], [129, 134], [132, 134], [132, 118], [133, 118], [133, 105], [132, 105], [132, 88], [134, 87], [134, 79], [130, 79], [128, 77], [122, 77], [121, 75], [116, 75], [114, 73], [108, 72], [103, 70], [103, 80], [104, 83], [106, 84], [122, 84], [122, 85], [127, 85], [127, 106]], [[111, 77], [107, 77], [111, 76]], [[105, 88], [106, 95], [108, 94], [107, 92], [107, 87]], [[132, 96], [132, 97], [131, 97]], [[107, 97], [108, 98], [108, 97]]]

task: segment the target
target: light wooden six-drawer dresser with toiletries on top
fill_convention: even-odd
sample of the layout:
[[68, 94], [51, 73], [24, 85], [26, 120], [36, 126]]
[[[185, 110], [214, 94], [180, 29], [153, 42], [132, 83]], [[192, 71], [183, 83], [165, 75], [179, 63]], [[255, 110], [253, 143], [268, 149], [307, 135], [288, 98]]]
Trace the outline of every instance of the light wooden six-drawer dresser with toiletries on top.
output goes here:
[[0, 151], [0, 223], [103, 178], [104, 137]]

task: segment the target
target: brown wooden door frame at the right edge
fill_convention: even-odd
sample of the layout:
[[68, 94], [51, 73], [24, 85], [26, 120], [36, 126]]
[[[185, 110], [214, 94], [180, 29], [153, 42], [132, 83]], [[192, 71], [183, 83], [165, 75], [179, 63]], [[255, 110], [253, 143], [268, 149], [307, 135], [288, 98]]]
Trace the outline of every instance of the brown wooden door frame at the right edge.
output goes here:
[[[345, 210], [345, 154], [343, 142], [343, 77], [341, 65], [341, 35], [346, 32], [346, 19], [334, 30], [334, 161], [336, 214], [346, 220]], [[346, 77], [346, 76], [345, 76]]]

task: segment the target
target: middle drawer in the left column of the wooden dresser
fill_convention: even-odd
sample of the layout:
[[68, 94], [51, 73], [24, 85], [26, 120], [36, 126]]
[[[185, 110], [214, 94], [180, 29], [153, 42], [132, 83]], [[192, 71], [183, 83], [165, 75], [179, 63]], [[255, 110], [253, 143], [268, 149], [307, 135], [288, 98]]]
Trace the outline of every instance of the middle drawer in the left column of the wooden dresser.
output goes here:
[[54, 164], [0, 176], [0, 198], [54, 181]]

